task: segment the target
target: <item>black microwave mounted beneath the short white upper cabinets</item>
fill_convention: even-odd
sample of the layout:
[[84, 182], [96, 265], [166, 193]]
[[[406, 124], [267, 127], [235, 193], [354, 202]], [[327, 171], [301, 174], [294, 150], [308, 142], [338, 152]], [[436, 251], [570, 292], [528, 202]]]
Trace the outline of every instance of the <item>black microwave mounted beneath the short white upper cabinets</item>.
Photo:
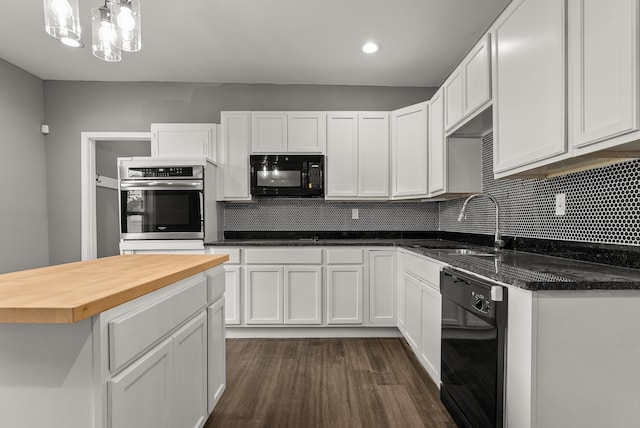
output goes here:
[[323, 155], [251, 155], [253, 196], [323, 197]]

